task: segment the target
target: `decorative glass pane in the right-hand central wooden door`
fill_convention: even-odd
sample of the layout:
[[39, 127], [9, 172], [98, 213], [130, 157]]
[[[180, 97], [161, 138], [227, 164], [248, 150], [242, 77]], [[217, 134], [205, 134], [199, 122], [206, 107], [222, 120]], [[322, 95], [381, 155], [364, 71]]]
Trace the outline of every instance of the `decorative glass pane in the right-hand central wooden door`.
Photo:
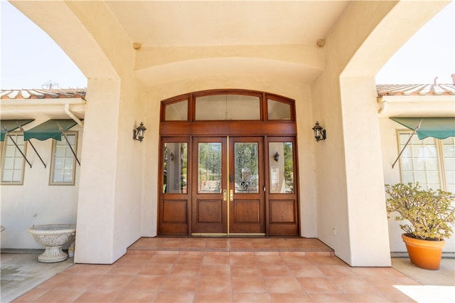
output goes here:
[[235, 193], [259, 193], [257, 142], [235, 142]]

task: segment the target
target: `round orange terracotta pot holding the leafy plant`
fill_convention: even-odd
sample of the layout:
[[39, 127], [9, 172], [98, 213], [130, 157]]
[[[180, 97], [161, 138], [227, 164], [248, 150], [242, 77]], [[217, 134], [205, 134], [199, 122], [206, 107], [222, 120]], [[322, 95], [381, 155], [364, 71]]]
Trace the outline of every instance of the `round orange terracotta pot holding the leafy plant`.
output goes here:
[[442, 248], [446, 241], [419, 240], [408, 237], [405, 233], [401, 235], [401, 238], [406, 244], [412, 264], [426, 270], [439, 270]]

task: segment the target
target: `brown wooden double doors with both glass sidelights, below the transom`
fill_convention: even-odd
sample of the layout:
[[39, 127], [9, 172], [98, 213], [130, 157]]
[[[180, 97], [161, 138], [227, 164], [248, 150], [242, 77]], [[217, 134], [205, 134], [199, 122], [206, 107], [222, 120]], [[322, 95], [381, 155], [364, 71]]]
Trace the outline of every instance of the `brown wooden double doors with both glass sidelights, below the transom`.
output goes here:
[[163, 139], [161, 235], [298, 235], [293, 138]]

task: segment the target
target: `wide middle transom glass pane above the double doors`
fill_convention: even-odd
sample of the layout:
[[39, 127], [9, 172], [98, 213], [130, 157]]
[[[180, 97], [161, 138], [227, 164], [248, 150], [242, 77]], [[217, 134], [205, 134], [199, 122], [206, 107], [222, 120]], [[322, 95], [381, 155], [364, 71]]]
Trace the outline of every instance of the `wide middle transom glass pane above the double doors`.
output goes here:
[[209, 95], [196, 99], [196, 120], [259, 120], [259, 97]]

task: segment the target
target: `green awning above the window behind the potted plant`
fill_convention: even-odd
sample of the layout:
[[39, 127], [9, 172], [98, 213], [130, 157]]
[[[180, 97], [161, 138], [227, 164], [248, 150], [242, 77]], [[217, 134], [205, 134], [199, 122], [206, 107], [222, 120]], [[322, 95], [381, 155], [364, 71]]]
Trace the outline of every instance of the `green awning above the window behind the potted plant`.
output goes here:
[[427, 137], [437, 139], [455, 137], [455, 117], [390, 117], [390, 119], [412, 130], [416, 129], [422, 121], [417, 129], [417, 137], [421, 140]]

